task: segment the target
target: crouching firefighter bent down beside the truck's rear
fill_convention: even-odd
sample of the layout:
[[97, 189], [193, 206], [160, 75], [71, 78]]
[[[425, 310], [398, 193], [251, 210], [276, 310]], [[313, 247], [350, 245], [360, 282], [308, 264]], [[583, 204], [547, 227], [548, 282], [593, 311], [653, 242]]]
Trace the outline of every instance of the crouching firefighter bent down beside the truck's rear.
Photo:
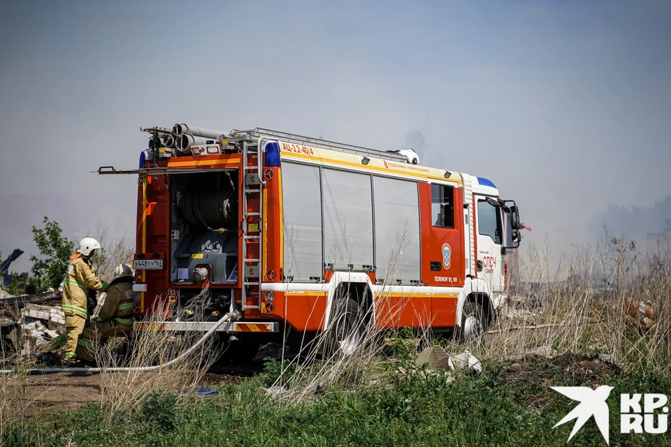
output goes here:
[[93, 362], [96, 340], [104, 342], [108, 337], [124, 335], [133, 330], [133, 271], [121, 264], [112, 272], [112, 282], [107, 290], [105, 302], [98, 318], [84, 328], [77, 346], [78, 360]]

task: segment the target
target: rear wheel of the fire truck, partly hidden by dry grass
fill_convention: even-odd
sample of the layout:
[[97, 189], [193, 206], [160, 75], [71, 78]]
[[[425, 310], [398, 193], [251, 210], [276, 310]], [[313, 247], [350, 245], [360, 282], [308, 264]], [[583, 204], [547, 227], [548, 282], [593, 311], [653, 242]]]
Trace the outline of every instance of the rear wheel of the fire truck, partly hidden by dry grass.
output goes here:
[[352, 356], [363, 344], [366, 336], [366, 324], [361, 315], [359, 304], [343, 298], [333, 303], [333, 320], [329, 329], [329, 348], [331, 356]]

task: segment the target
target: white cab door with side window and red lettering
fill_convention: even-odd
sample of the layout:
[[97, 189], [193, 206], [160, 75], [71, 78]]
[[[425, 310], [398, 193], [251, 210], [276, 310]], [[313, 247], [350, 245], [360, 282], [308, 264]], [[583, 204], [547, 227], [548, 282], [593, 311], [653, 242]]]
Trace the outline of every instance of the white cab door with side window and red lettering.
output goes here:
[[503, 293], [504, 286], [501, 255], [504, 241], [500, 207], [489, 203], [484, 196], [475, 195], [475, 203], [477, 277], [484, 279], [491, 287], [491, 298], [496, 300], [498, 294]]

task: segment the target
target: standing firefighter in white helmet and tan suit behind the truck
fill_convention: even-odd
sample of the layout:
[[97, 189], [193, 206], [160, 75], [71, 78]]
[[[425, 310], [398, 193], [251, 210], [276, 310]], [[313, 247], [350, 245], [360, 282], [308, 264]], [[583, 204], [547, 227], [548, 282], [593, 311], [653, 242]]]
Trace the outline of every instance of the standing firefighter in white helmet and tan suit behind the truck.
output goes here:
[[108, 284], [96, 278], [90, 258], [100, 249], [100, 243], [93, 237], [85, 237], [79, 243], [79, 249], [70, 256], [68, 272], [63, 280], [63, 298], [61, 309], [65, 314], [65, 331], [68, 342], [65, 346], [64, 365], [77, 360], [77, 342], [88, 317], [87, 295], [90, 290], [106, 291]]

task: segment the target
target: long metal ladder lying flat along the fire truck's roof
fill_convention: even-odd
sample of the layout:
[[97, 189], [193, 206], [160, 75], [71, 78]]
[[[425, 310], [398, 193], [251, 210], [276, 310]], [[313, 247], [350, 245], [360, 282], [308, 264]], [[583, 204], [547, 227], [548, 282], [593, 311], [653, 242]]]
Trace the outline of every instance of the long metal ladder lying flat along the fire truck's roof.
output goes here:
[[[330, 149], [332, 151], [347, 152], [348, 154], [363, 155], [372, 157], [374, 159], [384, 159], [391, 161], [398, 161], [399, 163], [407, 163], [407, 156], [398, 154], [397, 152], [381, 151], [380, 149], [370, 149], [368, 147], [347, 145], [341, 142], [334, 142], [329, 140], [320, 140], [319, 138], [305, 137], [303, 135], [296, 135], [294, 133], [271, 131], [270, 129], [262, 129], [261, 127], [254, 128], [250, 131], [233, 130], [229, 134], [231, 140], [247, 140], [257, 141], [259, 138], [264, 140], [280, 140], [284, 142], [291, 142], [294, 145], [305, 145], [317, 147], [319, 149]], [[263, 148], [259, 149], [263, 152]]]

